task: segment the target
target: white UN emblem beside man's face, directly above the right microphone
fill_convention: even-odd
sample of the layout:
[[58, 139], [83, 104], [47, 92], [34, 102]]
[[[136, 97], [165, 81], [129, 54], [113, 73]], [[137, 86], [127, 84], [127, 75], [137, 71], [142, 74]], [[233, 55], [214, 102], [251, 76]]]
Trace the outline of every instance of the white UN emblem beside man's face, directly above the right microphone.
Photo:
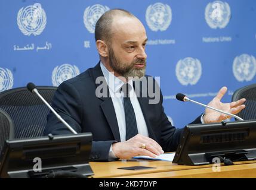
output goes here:
[[175, 71], [176, 77], [182, 85], [195, 85], [202, 74], [201, 62], [193, 58], [180, 59]]

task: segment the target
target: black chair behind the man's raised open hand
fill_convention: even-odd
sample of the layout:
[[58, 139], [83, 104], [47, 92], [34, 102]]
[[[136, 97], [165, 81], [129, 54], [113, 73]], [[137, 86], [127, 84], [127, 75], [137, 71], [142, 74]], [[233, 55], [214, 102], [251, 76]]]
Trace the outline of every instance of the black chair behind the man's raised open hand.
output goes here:
[[246, 107], [237, 115], [245, 120], [256, 119], [256, 84], [247, 85], [236, 90], [232, 96], [232, 101], [242, 98], [246, 99]]

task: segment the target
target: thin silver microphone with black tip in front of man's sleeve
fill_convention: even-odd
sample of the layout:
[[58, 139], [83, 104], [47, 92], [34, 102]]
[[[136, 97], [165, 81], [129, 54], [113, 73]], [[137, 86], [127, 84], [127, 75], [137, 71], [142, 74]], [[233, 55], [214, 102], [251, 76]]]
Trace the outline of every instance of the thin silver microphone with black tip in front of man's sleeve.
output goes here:
[[67, 124], [66, 121], [64, 121], [63, 118], [61, 118], [60, 115], [58, 115], [57, 112], [51, 107], [48, 102], [44, 99], [44, 97], [39, 94], [38, 89], [36, 89], [36, 85], [33, 83], [27, 83], [27, 90], [31, 91], [32, 93], [35, 93], [41, 100], [42, 102], [45, 103], [49, 107], [49, 109], [54, 113], [54, 115], [73, 133], [73, 134], [78, 134], [69, 124]]

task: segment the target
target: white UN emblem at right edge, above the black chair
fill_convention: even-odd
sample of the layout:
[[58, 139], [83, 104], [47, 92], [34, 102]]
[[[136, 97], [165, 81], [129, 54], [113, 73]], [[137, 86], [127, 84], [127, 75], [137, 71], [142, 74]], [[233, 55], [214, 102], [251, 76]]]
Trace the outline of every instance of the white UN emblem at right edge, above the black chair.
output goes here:
[[256, 60], [254, 56], [247, 54], [236, 56], [233, 61], [233, 74], [239, 82], [251, 81], [256, 74]]

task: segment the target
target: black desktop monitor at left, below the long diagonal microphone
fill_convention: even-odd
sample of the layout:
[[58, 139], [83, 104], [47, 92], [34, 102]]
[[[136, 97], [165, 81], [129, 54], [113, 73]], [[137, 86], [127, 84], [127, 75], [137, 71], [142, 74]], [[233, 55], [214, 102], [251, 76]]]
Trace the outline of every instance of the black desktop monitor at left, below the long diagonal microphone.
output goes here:
[[53, 172], [93, 175], [88, 162], [91, 144], [90, 132], [7, 140], [0, 178], [45, 178]]

